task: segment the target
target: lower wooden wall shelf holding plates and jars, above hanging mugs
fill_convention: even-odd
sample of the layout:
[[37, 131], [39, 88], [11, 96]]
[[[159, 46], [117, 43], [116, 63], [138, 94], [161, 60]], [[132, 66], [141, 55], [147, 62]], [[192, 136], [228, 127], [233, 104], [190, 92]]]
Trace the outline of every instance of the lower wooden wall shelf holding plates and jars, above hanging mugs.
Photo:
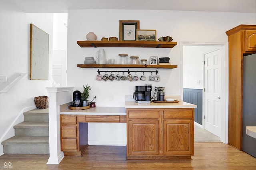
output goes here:
[[77, 64], [80, 68], [156, 68], [173, 69], [177, 65], [142, 65], [142, 64]]

